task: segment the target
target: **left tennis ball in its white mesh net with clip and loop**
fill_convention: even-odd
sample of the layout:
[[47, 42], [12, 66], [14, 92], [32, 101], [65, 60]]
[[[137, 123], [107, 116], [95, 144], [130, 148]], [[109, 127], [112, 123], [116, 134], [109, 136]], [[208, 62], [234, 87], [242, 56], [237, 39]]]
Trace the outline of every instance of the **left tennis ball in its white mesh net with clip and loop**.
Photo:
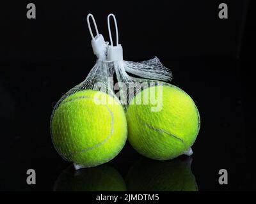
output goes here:
[[[95, 37], [90, 17], [97, 32]], [[96, 64], [81, 84], [56, 103], [51, 115], [54, 147], [76, 169], [108, 162], [122, 150], [127, 139], [124, 108], [108, 83], [108, 77], [113, 75], [106, 62], [108, 43], [99, 34], [92, 15], [88, 15], [87, 22]]]

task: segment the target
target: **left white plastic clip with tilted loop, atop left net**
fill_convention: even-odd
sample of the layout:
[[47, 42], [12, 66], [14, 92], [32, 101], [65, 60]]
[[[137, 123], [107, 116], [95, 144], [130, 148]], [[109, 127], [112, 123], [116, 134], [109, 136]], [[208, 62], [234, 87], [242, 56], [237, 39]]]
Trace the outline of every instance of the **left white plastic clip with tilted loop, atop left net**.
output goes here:
[[[92, 33], [92, 28], [91, 28], [91, 25], [90, 25], [90, 17], [92, 18], [93, 25], [95, 27], [96, 36], [93, 36], [93, 33]], [[91, 13], [89, 13], [87, 15], [87, 24], [88, 24], [88, 29], [90, 31], [90, 34], [92, 36], [92, 49], [93, 49], [93, 53], [95, 55], [99, 55], [102, 52], [104, 52], [104, 49], [106, 47], [106, 42], [105, 42], [102, 34], [99, 34], [99, 31], [98, 31], [98, 28], [97, 28], [97, 24], [96, 24], [95, 19], [94, 19], [93, 15]]]

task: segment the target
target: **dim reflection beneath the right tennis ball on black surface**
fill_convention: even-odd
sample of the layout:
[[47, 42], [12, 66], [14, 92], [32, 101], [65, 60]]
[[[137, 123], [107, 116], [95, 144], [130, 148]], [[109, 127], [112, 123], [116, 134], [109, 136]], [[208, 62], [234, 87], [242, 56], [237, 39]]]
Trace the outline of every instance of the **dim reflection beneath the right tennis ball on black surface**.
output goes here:
[[140, 159], [125, 178], [128, 191], [198, 191], [191, 158], [156, 161]]

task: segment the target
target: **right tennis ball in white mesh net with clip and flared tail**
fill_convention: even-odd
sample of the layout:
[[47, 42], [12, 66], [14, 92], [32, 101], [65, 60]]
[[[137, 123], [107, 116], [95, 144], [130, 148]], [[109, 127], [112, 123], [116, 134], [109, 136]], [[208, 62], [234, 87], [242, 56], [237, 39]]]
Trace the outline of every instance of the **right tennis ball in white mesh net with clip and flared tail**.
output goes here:
[[[115, 22], [116, 46], [113, 46], [110, 17]], [[200, 129], [200, 116], [193, 99], [179, 87], [167, 83], [172, 80], [172, 74], [157, 57], [143, 62], [123, 60], [113, 14], [108, 16], [108, 29], [108, 65], [115, 69], [118, 98], [125, 108], [132, 147], [143, 156], [157, 160], [173, 159], [181, 154], [190, 156]]]

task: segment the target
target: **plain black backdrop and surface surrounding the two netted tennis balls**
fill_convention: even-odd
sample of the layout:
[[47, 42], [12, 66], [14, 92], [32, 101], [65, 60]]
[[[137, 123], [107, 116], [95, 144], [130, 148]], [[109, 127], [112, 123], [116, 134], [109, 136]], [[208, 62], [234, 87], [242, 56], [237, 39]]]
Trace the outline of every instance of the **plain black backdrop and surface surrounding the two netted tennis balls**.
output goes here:
[[[36, 4], [36, 19], [26, 18], [28, 3]], [[218, 18], [220, 3], [228, 4], [228, 19]], [[56, 101], [95, 63], [88, 13], [106, 40], [106, 17], [114, 13], [124, 59], [157, 55], [172, 70], [172, 84], [195, 100], [202, 120], [192, 156], [199, 191], [256, 189], [251, 2], [19, 1], [0, 8], [0, 190], [51, 191], [70, 165], [54, 150], [49, 120]], [[127, 142], [110, 163], [125, 177], [140, 157]], [[35, 186], [26, 184], [29, 168]], [[228, 185], [218, 184], [221, 168]]]

